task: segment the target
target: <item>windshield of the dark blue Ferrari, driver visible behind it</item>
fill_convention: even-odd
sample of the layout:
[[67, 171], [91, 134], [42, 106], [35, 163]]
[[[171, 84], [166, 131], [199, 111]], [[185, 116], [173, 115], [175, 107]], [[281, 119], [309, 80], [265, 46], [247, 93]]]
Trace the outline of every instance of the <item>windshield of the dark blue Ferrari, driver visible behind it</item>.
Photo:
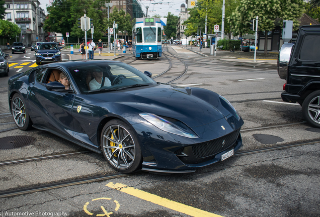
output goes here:
[[[121, 62], [79, 65], [70, 67], [68, 70], [82, 94], [156, 84], [139, 70]], [[104, 84], [102, 84], [103, 80]]]

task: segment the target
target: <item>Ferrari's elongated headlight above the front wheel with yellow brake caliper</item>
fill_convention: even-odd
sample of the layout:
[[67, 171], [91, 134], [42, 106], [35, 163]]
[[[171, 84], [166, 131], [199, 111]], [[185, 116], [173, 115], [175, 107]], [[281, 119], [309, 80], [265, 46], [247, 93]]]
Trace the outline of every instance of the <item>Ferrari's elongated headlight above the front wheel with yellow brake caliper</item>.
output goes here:
[[179, 136], [187, 137], [187, 138], [199, 138], [197, 135], [191, 134], [186, 132], [184, 129], [178, 127], [177, 125], [150, 113], [142, 113], [139, 114], [143, 119], [145, 119], [150, 124], [154, 125], [155, 127], [159, 128], [168, 133], [176, 134]]

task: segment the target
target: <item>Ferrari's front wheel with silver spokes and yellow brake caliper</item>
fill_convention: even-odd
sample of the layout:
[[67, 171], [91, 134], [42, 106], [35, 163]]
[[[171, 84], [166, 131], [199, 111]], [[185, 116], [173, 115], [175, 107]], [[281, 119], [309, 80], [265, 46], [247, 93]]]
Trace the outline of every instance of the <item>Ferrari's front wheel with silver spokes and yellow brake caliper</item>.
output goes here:
[[132, 173], [141, 167], [142, 154], [134, 131], [119, 119], [108, 122], [102, 130], [104, 157], [117, 171]]

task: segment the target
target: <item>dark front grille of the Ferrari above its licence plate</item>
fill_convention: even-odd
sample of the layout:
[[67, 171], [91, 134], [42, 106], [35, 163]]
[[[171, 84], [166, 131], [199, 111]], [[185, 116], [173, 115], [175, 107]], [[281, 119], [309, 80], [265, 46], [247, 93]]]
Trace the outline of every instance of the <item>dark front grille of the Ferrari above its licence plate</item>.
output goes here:
[[[209, 142], [192, 145], [193, 154], [196, 158], [203, 158], [211, 155], [216, 155], [219, 152], [232, 146], [238, 136], [238, 133], [239, 130], [229, 133], [218, 139], [211, 140]], [[222, 147], [223, 141], [224, 145]]]

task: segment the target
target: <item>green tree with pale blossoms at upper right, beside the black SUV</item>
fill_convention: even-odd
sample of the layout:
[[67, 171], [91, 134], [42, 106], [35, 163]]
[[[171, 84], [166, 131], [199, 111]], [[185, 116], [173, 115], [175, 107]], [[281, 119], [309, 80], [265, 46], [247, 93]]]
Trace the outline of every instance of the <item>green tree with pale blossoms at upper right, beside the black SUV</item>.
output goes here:
[[[268, 31], [275, 28], [277, 20], [292, 20], [294, 30], [298, 28], [298, 19], [303, 13], [303, 0], [241, 0], [235, 12], [229, 16], [233, 32], [245, 34], [250, 32], [250, 20], [259, 17], [258, 31]], [[265, 40], [265, 51], [268, 52], [268, 40]]]

